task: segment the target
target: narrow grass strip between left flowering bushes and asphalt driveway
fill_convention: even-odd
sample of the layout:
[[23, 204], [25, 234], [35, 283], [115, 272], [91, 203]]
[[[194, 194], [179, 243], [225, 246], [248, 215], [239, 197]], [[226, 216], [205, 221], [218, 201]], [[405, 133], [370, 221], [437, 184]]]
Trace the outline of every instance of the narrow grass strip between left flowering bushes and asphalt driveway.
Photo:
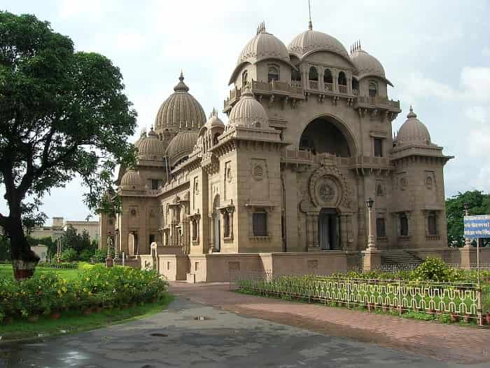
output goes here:
[[41, 316], [38, 322], [29, 322], [24, 319], [14, 320], [11, 325], [0, 325], [1, 341], [70, 334], [137, 320], [162, 311], [167, 308], [167, 305], [172, 300], [173, 297], [167, 294], [165, 299], [157, 303], [144, 304], [132, 308], [104, 310], [101, 313], [92, 313], [90, 315], [65, 312], [62, 313], [59, 320], [51, 320], [48, 316]]

